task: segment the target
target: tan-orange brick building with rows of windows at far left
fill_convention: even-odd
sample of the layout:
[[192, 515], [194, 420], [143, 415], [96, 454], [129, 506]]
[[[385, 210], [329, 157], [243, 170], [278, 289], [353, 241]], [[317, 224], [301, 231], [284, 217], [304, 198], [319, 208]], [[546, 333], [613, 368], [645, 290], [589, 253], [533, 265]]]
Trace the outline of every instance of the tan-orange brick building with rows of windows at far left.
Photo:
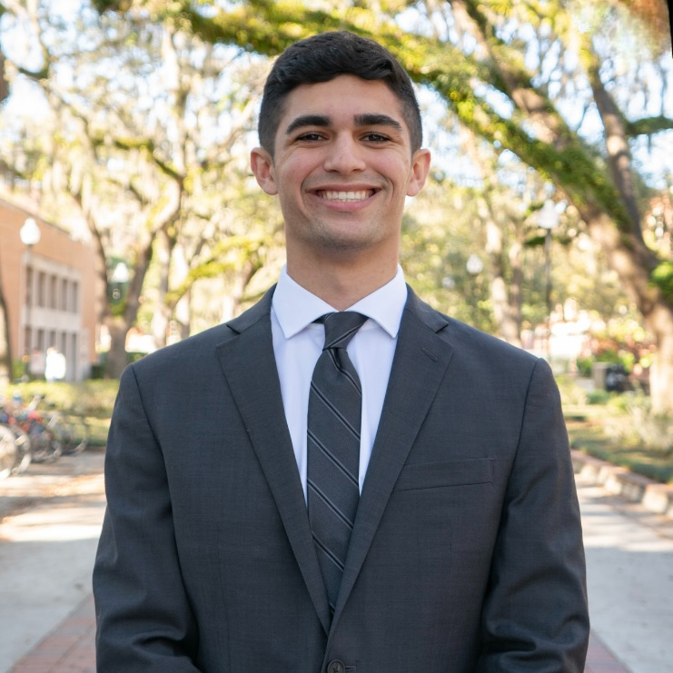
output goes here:
[[[30, 249], [19, 235], [29, 217], [41, 233]], [[65, 380], [86, 378], [97, 361], [92, 248], [0, 198], [0, 274], [13, 359], [55, 346], [65, 355]]]

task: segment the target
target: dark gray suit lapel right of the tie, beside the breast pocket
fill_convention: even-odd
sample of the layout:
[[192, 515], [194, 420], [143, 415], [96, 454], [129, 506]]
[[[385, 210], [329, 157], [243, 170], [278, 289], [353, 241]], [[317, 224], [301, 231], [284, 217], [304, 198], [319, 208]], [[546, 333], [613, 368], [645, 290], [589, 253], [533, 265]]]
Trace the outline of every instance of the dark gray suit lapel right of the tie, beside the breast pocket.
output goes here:
[[453, 351], [450, 343], [437, 334], [447, 324], [446, 319], [421, 302], [411, 288], [408, 292], [332, 626], [338, 621], [351, 593], [392, 488], [431, 407]]

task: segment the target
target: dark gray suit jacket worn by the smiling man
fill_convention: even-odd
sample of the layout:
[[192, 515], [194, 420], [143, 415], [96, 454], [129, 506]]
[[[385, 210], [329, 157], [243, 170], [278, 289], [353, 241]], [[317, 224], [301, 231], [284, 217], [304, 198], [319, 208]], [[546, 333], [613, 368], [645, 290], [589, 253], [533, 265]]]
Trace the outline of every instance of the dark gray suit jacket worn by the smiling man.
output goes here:
[[583, 670], [579, 508], [547, 363], [410, 291], [330, 623], [271, 294], [124, 372], [94, 570], [99, 670]]

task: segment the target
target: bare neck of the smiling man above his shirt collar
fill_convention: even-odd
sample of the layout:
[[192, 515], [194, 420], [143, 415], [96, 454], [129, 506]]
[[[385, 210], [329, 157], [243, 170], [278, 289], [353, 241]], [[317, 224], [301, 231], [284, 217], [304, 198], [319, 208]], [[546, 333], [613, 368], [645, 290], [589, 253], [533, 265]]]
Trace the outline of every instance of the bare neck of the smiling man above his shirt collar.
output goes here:
[[338, 311], [344, 311], [371, 292], [376, 292], [397, 273], [397, 260], [393, 263], [359, 264], [341, 262], [315, 264], [314, 261], [292, 260], [288, 254], [287, 272], [294, 282], [320, 297]]

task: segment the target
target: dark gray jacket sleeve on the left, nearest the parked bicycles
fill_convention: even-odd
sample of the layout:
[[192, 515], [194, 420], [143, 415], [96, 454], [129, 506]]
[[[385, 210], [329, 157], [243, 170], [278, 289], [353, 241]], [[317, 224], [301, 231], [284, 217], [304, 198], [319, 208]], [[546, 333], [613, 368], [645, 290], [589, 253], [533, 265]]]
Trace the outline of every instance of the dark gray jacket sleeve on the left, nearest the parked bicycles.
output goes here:
[[99, 673], [194, 673], [198, 634], [183, 587], [161, 446], [133, 367], [105, 455], [107, 510], [94, 566]]

